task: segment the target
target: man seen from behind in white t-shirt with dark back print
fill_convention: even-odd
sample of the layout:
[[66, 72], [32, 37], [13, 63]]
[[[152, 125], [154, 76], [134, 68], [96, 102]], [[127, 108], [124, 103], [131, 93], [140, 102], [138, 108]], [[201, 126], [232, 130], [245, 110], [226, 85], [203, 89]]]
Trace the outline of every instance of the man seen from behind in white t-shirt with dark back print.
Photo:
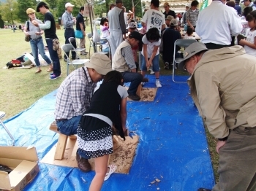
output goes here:
[[165, 15], [159, 11], [159, 0], [151, 0], [150, 8], [145, 12], [141, 20], [143, 27], [146, 27], [147, 31], [149, 28], [157, 28], [159, 34], [165, 29]]

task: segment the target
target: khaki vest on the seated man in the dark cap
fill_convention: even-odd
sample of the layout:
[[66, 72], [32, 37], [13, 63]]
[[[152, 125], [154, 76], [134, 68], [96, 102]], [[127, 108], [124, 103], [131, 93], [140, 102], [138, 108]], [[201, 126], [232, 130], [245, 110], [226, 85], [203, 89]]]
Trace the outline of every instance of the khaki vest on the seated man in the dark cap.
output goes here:
[[128, 46], [131, 46], [129, 42], [124, 41], [117, 47], [115, 55], [113, 57], [113, 63], [112, 63], [113, 70], [120, 71], [120, 72], [131, 71], [131, 69], [129, 69], [127, 62], [124, 59], [124, 56], [121, 55], [121, 49]]

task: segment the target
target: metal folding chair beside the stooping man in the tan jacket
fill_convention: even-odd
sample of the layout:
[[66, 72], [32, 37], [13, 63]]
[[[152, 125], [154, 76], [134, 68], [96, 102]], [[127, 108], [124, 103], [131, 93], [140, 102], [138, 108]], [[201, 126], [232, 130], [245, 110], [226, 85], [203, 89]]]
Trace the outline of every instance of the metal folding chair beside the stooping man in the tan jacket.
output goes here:
[[[176, 53], [176, 46], [178, 47], [188, 47], [190, 44], [197, 42], [195, 39], [178, 39], [176, 42], [174, 42], [174, 51], [173, 51], [173, 82], [178, 82], [174, 80], [174, 74], [175, 74], [175, 69], [177, 68], [176, 66], [178, 63], [181, 62], [183, 58], [175, 58], [175, 53]], [[186, 82], [181, 82], [181, 83], [186, 83]]]

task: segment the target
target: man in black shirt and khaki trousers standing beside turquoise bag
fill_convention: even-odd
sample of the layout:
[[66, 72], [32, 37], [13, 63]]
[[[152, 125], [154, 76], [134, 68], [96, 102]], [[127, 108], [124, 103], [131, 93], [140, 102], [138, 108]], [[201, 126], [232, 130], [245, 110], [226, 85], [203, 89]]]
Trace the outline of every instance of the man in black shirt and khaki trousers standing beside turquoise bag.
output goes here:
[[[84, 20], [83, 20], [83, 11], [84, 11], [84, 7], [80, 7], [80, 12], [78, 13], [77, 16], [77, 22], [76, 22], [76, 30], [77, 31], [82, 31], [83, 33], [83, 38], [80, 39], [80, 43], [79, 43], [79, 47], [81, 49], [86, 48], [86, 26], [84, 24]], [[80, 52], [80, 55], [86, 55], [86, 51], [82, 51]]]

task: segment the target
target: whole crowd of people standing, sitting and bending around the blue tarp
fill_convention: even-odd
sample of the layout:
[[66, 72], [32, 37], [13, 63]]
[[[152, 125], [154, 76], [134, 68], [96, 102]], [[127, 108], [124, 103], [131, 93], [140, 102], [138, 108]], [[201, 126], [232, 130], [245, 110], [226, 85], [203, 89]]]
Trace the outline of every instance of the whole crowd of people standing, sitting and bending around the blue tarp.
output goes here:
[[[111, 56], [94, 53], [85, 66], [64, 79], [56, 96], [55, 119], [59, 131], [68, 136], [78, 134], [78, 168], [91, 171], [88, 160], [94, 158], [96, 174], [90, 190], [100, 190], [110, 171], [111, 127], [124, 139], [128, 135], [127, 98], [140, 100], [136, 91], [147, 81], [144, 77], [149, 69], [154, 72], [156, 87], [162, 87], [161, 54], [165, 69], [175, 67], [173, 54], [175, 58], [184, 57], [178, 69], [191, 74], [188, 84], [195, 105], [210, 133], [219, 139], [220, 178], [212, 190], [256, 190], [256, 11], [251, 0], [243, 2], [244, 10], [239, 8], [238, 1], [226, 4], [225, 0], [214, 0], [199, 12], [199, 3], [195, 0], [186, 5], [180, 20], [168, 3], [164, 4], [165, 12], [161, 12], [159, 0], [151, 0], [140, 30], [133, 12], [126, 12], [121, 0], [110, 4], [108, 17], [102, 17], [100, 22], [100, 31], [101, 39], [108, 39], [102, 50]], [[69, 37], [75, 37], [75, 25], [83, 34], [80, 47], [85, 48], [84, 7], [80, 7], [78, 17], [73, 17], [73, 7], [65, 4], [62, 15], [65, 43], [69, 43]], [[37, 20], [35, 12], [31, 8], [26, 10], [29, 21], [24, 33], [30, 35], [36, 73], [42, 71], [39, 50], [49, 64], [48, 71], [53, 71], [50, 79], [57, 79], [61, 76], [61, 66], [56, 23], [45, 2], [37, 5], [37, 12], [45, 16], [44, 23]], [[181, 33], [180, 23], [187, 26], [187, 34]], [[200, 36], [200, 42], [189, 45], [183, 55], [180, 47], [174, 52], [176, 40], [195, 39], [194, 32]], [[42, 48], [42, 34], [45, 34], [51, 61]], [[244, 39], [238, 39], [239, 35]], [[76, 57], [72, 52], [72, 58]], [[102, 85], [97, 86], [102, 79]], [[123, 87], [124, 82], [131, 82], [128, 90]], [[199, 188], [199, 191], [207, 190], [211, 189]]]

